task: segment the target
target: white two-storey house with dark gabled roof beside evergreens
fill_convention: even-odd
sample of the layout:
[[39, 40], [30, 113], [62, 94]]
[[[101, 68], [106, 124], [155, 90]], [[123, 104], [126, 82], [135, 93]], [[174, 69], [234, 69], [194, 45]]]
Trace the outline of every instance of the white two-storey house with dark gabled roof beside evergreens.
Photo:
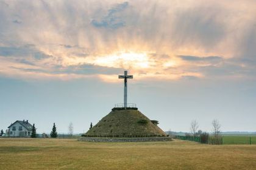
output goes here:
[[29, 121], [20, 121], [17, 120], [15, 123], [12, 123], [9, 127], [10, 137], [29, 137], [32, 132], [32, 125]]

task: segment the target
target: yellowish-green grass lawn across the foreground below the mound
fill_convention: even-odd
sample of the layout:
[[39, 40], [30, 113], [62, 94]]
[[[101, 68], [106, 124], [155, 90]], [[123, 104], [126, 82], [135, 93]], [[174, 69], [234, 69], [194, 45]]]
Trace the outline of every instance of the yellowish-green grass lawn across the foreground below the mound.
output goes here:
[[0, 138], [0, 169], [255, 169], [256, 145]]

